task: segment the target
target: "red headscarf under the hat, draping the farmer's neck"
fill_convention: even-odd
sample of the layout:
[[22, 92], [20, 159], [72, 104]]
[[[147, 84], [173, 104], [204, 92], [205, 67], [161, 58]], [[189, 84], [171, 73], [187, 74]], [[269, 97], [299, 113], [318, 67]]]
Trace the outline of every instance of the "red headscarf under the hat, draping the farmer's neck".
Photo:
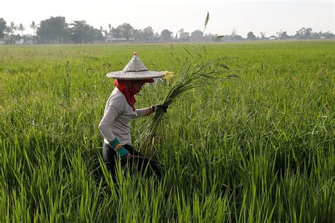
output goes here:
[[[143, 82], [146, 83], [152, 83], [153, 79], [145, 79], [145, 80], [141, 80]], [[135, 88], [134, 88], [134, 83], [136, 81], [133, 80], [118, 80], [115, 79], [114, 84], [115, 86], [117, 86], [117, 88], [119, 89], [119, 91], [121, 91], [124, 95], [124, 97], [126, 98], [127, 102], [129, 103], [129, 105], [131, 105], [131, 107], [133, 108], [133, 110], [135, 109]]]

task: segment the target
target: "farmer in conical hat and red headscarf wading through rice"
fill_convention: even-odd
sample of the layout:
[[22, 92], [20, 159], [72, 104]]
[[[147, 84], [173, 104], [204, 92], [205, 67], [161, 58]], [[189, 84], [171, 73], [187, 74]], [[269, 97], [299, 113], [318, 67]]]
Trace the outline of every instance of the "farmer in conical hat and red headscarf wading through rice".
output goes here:
[[116, 161], [120, 160], [121, 166], [125, 166], [130, 160], [136, 160], [136, 157], [144, 157], [143, 154], [134, 149], [131, 143], [129, 122], [132, 118], [148, 116], [157, 110], [166, 112], [166, 105], [135, 108], [136, 93], [141, 91], [144, 84], [152, 83], [153, 79], [162, 76], [164, 73], [148, 71], [137, 57], [136, 52], [123, 71], [107, 74], [107, 77], [115, 79], [116, 88], [107, 100], [99, 130], [105, 138], [102, 156], [108, 170], [113, 175]]

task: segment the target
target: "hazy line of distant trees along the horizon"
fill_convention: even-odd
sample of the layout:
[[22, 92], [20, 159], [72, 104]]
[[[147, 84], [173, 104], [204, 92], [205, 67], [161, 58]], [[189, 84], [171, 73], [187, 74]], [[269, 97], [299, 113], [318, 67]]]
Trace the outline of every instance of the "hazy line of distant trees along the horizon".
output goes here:
[[94, 28], [86, 21], [73, 21], [66, 23], [65, 17], [50, 17], [40, 23], [32, 21], [29, 28], [33, 29], [33, 35], [25, 34], [26, 27], [22, 23], [16, 25], [13, 22], [7, 23], [0, 18], [0, 41], [4, 44], [67, 44], [67, 43], [102, 43], [102, 42], [225, 42], [238, 40], [300, 40], [300, 39], [331, 39], [335, 35], [329, 31], [326, 33], [312, 32], [312, 28], [300, 28], [295, 35], [288, 35], [284, 30], [279, 30], [276, 35], [266, 37], [265, 32], [256, 36], [252, 31], [247, 33], [247, 38], [237, 35], [234, 29], [230, 35], [204, 34], [201, 30], [194, 30], [192, 33], [180, 29], [174, 33], [168, 29], [161, 33], [155, 33], [153, 28], [136, 29], [129, 23], [123, 23], [117, 27], [108, 25], [108, 28]]

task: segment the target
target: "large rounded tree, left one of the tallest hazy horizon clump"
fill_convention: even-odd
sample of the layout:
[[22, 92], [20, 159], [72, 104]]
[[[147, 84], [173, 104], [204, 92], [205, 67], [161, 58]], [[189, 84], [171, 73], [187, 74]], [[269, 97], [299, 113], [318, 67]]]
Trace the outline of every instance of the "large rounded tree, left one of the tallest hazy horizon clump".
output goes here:
[[45, 43], [61, 43], [69, 39], [69, 28], [65, 17], [50, 17], [41, 21], [37, 28], [37, 38]]

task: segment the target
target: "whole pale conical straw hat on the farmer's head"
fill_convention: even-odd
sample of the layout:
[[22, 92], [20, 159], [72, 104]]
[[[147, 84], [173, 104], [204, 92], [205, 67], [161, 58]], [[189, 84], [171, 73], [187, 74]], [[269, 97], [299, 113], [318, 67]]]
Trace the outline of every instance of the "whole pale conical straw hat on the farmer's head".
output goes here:
[[144, 79], [154, 79], [164, 76], [164, 72], [152, 72], [149, 71], [146, 66], [141, 62], [141, 59], [137, 57], [136, 52], [134, 52], [133, 58], [124, 67], [122, 71], [110, 72], [106, 74], [107, 77], [119, 80], [144, 80]]

